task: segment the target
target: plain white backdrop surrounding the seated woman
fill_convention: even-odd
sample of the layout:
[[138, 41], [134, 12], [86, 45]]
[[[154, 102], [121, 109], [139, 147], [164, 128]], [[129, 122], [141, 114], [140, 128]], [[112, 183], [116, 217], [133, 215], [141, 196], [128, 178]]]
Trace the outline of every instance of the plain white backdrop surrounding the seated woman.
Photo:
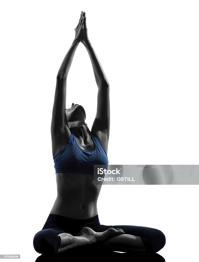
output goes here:
[[[197, 165], [198, 1], [1, 1], [0, 254], [35, 261], [33, 237], [56, 198], [50, 124], [61, 62], [81, 11], [110, 84], [109, 164]], [[97, 91], [79, 43], [66, 108]], [[105, 185], [101, 224], [161, 230], [166, 261], [198, 258], [198, 185]], [[13, 261], [13, 260], [12, 260]]]

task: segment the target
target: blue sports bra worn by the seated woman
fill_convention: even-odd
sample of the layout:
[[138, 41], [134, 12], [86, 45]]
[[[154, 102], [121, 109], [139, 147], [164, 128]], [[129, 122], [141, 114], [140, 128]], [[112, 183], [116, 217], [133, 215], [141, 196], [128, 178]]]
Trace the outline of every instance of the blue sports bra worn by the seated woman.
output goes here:
[[75, 140], [74, 135], [70, 137], [65, 146], [53, 157], [56, 173], [85, 173], [94, 174], [93, 165], [108, 166], [108, 157], [100, 143], [100, 140], [92, 133], [95, 149], [86, 151], [81, 149]]

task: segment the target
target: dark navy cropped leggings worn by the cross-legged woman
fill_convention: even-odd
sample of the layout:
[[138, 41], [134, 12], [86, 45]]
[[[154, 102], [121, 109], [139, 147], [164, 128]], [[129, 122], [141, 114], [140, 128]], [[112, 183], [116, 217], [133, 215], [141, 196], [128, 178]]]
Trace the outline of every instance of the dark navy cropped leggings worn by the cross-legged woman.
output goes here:
[[33, 239], [33, 246], [40, 254], [57, 254], [61, 238], [60, 233], [69, 233], [77, 236], [82, 227], [90, 227], [95, 232], [104, 232], [108, 228], [122, 228], [125, 234], [139, 236], [144, 243], [148, 254], [156, 253], [165, 245], [166, 239], [162, 231], [141, 226], [100, 225], [98, 215], [89, 219], [72, 219], [65, 216], [50, 214], [41, 231], [37, 232]]

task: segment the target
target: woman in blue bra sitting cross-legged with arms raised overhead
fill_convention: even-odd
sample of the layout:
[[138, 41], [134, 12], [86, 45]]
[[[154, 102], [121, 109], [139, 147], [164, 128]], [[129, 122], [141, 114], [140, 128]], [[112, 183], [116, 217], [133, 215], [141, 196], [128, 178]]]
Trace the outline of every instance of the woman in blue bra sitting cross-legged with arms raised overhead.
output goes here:
[[[66, 80], [76, 48], [86, 47], [98, 86], [97, 113], [91, 131], [81, 105], [66, 105]], [[59, 254], [87, 247], [100, 250], [152, 254], [165, 245], [155, 228], [100, 225], [97, 200], [101, 185], [93, 183], [93, 165], [108, 165], [110, 128], [109, 82], [88, 39], [85, 12], [75, 39], [59, 69], [53, 105], [51, 135], [57, 198], [33, 245], [40, 254]]]

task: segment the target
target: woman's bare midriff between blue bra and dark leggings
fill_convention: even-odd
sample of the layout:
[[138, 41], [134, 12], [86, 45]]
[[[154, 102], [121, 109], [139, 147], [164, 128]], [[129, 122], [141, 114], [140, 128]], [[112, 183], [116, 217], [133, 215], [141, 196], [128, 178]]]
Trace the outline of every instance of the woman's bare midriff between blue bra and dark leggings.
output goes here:
[[97, 200], [101, 185], [93, 176], [80, 173], [56, 173], [57, 198], [50, 214], [87, 219], [98, 214]]

